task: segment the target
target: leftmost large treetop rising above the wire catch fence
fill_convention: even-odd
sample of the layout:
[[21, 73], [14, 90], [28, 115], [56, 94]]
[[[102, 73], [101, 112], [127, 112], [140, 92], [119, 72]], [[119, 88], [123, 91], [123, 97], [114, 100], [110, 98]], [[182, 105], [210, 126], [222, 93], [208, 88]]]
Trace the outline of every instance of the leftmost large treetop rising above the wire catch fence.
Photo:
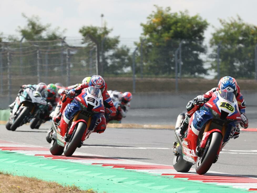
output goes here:
[[27, 24], [24, 27], [18, 26], [17, 31], [26, 40], [56, 40], [62, 38], [65, 32], [65, 29], [60, 32], [59, 27], [52, 30], [51, 24], [42, 24], [38, 16], [27, 17], [22, 13], [22, 17], [27, 20]]

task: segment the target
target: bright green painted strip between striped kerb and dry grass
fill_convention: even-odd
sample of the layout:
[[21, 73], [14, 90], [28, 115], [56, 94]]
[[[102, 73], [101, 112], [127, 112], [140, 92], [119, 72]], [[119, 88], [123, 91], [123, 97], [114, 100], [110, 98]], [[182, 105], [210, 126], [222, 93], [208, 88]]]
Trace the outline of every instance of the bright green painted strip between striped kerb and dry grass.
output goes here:
[[80, 189], [92, 188], [98, 192], [248, 192], [228, 186], [204, 184], [150, 175], [146, 173], [112, 169], [98, 165], [84, 165], [74, 162], [46, 159], [10, 151], [0, 151], [0, 171], [13, 175], [37, 177], [46, 181], [56, 181], [62, 185], [76, 185]]

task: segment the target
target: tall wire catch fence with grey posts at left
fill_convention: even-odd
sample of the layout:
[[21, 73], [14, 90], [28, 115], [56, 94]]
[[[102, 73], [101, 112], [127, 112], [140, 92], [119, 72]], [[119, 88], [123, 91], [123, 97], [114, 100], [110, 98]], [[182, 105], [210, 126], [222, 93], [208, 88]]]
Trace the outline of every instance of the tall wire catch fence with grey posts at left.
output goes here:
[[[73, 42], [80, 41], [79, 45]], [[0, 108], [17, 96], [23, 84], [65, 85], [97, 73], [96, 47], [82, 40], [0, 43]]]

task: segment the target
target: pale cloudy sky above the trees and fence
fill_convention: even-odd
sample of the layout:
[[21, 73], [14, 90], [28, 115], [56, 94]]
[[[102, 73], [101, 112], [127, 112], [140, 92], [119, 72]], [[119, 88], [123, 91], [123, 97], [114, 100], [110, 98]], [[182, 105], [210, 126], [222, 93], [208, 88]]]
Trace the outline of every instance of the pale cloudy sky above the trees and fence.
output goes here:
[[142, 33], [140, 23], [153, 10], [154, 4], [171, 7], [172, 12], [188, 10], [191, 16], [199, 14], [210, 23], [205, 32], [208, 43], [213, 26], [220, 27], [218, 18], [227, 19], [237, 14], [245, 21], [257, 25], [255, 0], [0, 0], [0, 32], [4, 35], [18, 34], [17, 26], [24, 26], [21, 16], [38, 15], [42, 23], [66, 29], [65, 36], [79, 39], [79, 29], [84, 25], [101, 26], [101, 14], [107, 27], [113, 28], [110, 36], [119, 35], [121, 43], [133, 47]]

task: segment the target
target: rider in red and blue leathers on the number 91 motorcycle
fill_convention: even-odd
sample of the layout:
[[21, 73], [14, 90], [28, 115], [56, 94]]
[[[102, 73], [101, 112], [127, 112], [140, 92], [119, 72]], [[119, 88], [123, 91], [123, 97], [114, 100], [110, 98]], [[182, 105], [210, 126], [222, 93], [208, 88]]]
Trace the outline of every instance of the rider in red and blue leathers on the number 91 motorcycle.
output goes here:
[[[105, 106], [105, 113], [108, 116], [115, 116], [116, 115], [116, 108], [114, 107], [110, 95], [107, 93], [107, 84], [105, 83], [104, 79], [100, 75], [93, 75], [89, 82], [84, 82], [83, 84], [79, 85], [78, 87], [71, 89], [68, 92], [68, 95], [70, 97], [75, 97], [76, 94], [80, 94], [84, 88], [88, 88], [90, 86], [94, 86], [96, 88], [99, 88], [102, 93], [102, 97], [104, 100], [104, 106]], [[73, 98], [66, 97], [63, 99], [63, 103], [61, 105], [60, 112], [57, 116], [53, 118], [54, 122], [59, 122], [59, 128], [65, 127], [66, 129], [68, 128], [68, 123], [71, 117], [74, 115], [76, 110], [69, 104]], [[64, 114], [63, 110], [68, 104]], [[60, 120], [59, 120], [60, 119]], [[96, 128], [94, 129], [94, 132], [96, 133], [103, 133], [106, 129], [106, 119], [105, 116], [102, 116], [101, 119], [99, 120], [93, 120], [96, 125]]]

